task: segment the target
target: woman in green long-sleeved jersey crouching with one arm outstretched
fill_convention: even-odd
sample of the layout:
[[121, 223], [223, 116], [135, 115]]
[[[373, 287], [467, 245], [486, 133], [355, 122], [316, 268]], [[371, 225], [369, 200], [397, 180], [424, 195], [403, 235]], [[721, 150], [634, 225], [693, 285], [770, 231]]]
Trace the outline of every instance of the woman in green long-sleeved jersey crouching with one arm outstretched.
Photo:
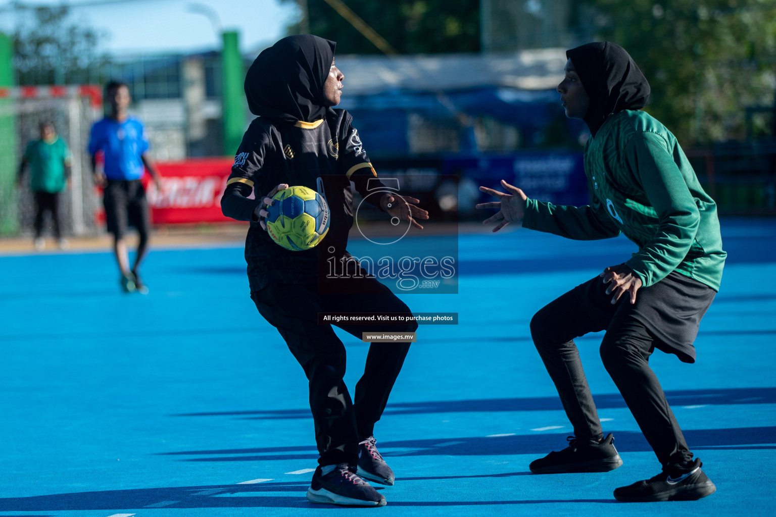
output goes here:
[[588, 43], [566, 52], [558, 85], [566, 116], [584, 119], [591, 138], [584, 150], [590, 205], [556, 206], [480, 187], [498, 202], [485, 223], [510, 222], [570, 239], [607, 239], [624, 233], [639, 251], [622, 264], [573, 288], [531, 321], [531, 334], [556, 385], [574, 435], [570, 445], [531, 464], [532, 472], [602, 472], [622, 465], [604, 435], [573, 338], [606, 330], [601, 359], [662, 471], [615, 490], [620, 501], [698, 499], [715, 486], [693, 460], [663, 388], [650, 369], [654, 349], [695, 362], [698, 324], [711, 305], [726, 253], [712, 198], [703, 191], [677, 139], [639, 111], [650, 85], [622, 47]]

